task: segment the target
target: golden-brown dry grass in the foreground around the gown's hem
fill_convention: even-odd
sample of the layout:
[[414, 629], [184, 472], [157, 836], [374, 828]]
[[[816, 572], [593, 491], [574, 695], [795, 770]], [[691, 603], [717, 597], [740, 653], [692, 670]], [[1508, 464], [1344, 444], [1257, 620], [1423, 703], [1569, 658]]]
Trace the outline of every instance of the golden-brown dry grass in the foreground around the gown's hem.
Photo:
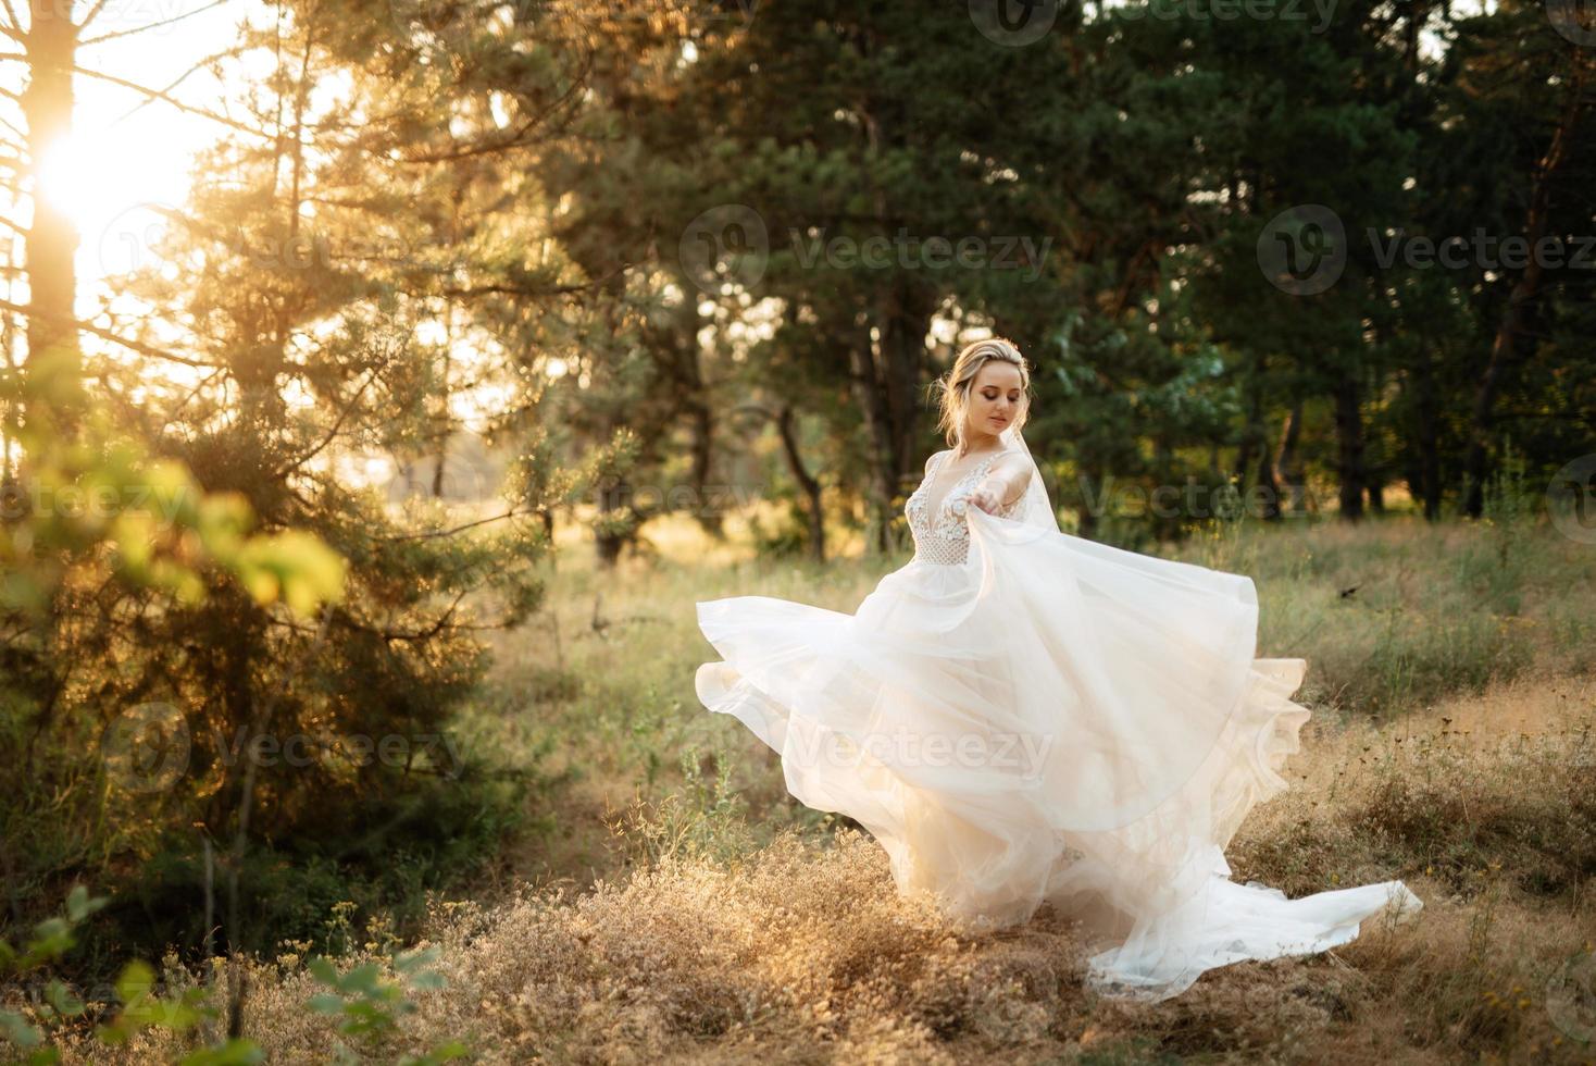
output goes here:
[[[1593, 721], [1596, 681], [1561, 678], [1424, 720], [1310, 723], [1296, 787], [1232, 846], [1237, 878], [1298, 895], [1401, 876], [1425, 911], [1321, 956], [1223, 967], [1165, 1004], [1093, 1001], [1049, 910], [974, 934], [900, 898], [868, 836], [787, 831], [579, 895], [439, 905], [448, 983], [369, 1055], [464, 1036], [482, 1061], [1591, 1061], [1574, 1036], [1596, 1004], [1548, 997], [1596, 942]], [[271, 1061], [326, 1055], [297, 959], [254, 962], [252, 989], [247, 1034]]]

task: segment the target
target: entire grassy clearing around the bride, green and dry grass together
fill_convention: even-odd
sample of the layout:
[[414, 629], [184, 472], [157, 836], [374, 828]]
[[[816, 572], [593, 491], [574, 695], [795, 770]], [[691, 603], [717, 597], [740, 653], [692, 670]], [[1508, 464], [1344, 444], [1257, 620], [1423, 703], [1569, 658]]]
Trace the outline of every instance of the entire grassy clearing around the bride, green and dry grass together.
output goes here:
[[[1133, 1007], [1080, 988], [1047, 908], [970, 938], [899, 898], [868, 836], [796, 804], [774, 753], [697, 704], [697, 600], [851, 611], [905, 559], [761, 562], [683, 527], [654, 543], [614, 573], [563, 554], [549, 610], [498, 640], [464, 724], [538, 766], [530, 828], [434, 903], [444, 985], [358, 1044], [370, 1061], [447, 1037], [482, 1061], [1596, 1061], [1596, 549], [1527, 519], [1389, 519], [1232, 525], [1171, 552], [1251, 574], [1259, 656], [1310, 662], [1293, 788], [1243, 825], [1235, 878], [1293, 897], [1401, 878], [1425, 910]], [[388, 965], [378, 932], [351, 964]], [[246, 1036], [322, 1058], [302, 959], [249, 969]], [[172, 1050], [155, 1039], [120, 1055]]]

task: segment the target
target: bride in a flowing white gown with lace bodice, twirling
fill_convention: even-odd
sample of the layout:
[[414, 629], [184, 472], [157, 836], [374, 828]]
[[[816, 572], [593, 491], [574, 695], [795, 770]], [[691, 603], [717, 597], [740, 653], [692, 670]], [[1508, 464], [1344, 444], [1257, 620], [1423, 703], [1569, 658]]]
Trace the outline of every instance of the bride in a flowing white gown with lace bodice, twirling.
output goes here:
[[699, 701], [780, 753], [788, 792], [857, 820], [903, 894], [978, 927], [1080, 921], [1095, 991], [1159, 1001], [1242, 959], [1312, 954], [1422, 908], [1401, 881], [1288, 900], [1224, 849], [1286, 787], [1302, 659], [1254, 659], [1251, 578], [1058, 528], [1020, 428], [1029, 369], [964, 348], [905, 512], [915, 557], [854, 614], [697, 605]]

